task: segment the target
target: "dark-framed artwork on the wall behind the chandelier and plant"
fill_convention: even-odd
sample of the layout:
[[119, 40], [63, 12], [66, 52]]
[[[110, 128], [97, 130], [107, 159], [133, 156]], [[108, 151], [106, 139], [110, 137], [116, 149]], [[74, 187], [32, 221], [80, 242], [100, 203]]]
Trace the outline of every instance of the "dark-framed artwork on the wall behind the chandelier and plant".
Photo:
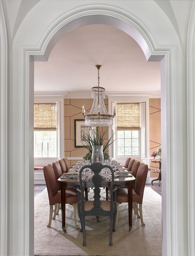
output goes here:
[[85, 135], [90, 133], [91, 126], [85, 125], [85, 119], [74, 119], [74, 147], [84, 147]]

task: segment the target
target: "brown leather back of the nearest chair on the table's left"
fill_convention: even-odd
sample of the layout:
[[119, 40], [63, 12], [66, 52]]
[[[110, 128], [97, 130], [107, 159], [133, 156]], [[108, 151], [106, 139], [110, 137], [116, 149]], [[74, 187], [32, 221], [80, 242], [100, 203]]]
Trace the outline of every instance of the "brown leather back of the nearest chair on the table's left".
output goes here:
[[55, 173], [53, 171], [53, 167], [51, 164], [48, 164], [43, 167], [43, 173], [45, 177], [48, 197], [49, 197], [49, 204], [53, 205], [53, 196], [58, 192], [57, 183]]

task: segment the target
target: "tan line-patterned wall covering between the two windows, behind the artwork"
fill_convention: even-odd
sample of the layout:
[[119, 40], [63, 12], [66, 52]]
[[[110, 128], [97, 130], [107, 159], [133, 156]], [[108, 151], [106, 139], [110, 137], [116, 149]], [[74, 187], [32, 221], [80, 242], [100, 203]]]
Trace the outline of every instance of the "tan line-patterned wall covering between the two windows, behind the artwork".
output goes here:
[[[108, 110], [108, 99], [104, 100]], [[85, 148], [74, 147], [74, 119], [84, 119], [82, 115], [82, 106], [85, 106], [86, 114], [91, 110], [93, 99], [64, 99], [64, 155], [65, 157], [83, 157], [88, 152]], [[100, 131], [107, 127], [99, 128]], [[108, 132], [105, 135], [108, 139]], [[77, 160], [71, 160], [70, 164], [75, 164]]]

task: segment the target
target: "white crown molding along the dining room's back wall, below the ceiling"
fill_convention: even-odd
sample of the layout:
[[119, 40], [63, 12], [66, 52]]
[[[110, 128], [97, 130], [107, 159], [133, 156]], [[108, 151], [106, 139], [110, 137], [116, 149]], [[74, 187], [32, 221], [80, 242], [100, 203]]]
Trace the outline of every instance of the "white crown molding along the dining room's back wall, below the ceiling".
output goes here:
[[[91, 98], [91, 91], [35, 91], [35, 97], [63, 97], [68, 99]], [[106, 98], [113, 96], [144, 96], [149, 98], [160, 98], [160, 91], [107, 91]]]

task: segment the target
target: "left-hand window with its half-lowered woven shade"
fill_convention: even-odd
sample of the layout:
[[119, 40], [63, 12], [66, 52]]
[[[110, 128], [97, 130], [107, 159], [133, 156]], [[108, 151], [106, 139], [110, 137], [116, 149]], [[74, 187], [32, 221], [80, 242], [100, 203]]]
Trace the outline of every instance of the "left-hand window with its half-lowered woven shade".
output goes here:
[[34, 157], [57, 157], [57, 104], [34, 104]]

